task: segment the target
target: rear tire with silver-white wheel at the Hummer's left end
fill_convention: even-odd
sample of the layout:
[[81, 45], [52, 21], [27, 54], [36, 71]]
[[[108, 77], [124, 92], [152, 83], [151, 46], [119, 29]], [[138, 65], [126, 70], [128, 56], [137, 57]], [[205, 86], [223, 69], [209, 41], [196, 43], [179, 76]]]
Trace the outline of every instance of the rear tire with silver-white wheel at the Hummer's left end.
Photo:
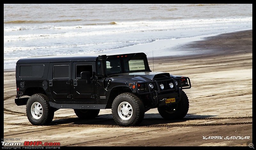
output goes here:
[[44, 94], [34, 94], [28, 99], [26, 113], [33, 125], [48, 125], [54, 116], [54, 110]]

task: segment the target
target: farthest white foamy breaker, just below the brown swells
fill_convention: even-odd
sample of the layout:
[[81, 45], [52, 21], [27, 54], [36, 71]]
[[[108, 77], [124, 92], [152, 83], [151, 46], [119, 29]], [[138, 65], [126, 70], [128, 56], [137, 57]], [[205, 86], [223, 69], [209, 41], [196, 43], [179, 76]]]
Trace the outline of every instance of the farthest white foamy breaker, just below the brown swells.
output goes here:
[[[241, 23], [241, 22], [252, 22], [252, 17], [245, 17], [245, 18], [215, 18], [215, 19], [175, 19], [173, 20], [172, 17], [165, 18], [166, 20], [162, 21], [150, 21], [150, 20], [144, 20], [144, 21], [112, 21], [112, 22], [99, 22], [99, 23], [83, 23], [81, 24], [75, 23], [75, 24], [68, 24], [66, 26], [63, 25], [55, 25], [55, 24], [44, 24], [44, 25], [30, 25], [30, 26], [22, 26], [22, 24], [18, 23], [17, 25], [20, 24], [20, 26], [13, 27], [13, 26], [8, 26], [4, 23], [4, 31], [19, 31], [19, 30], [35, 30], [35, 29], [104, 29], [104, 28], [141, 28], [142, 26], [147, 27], [147, 28], [157, 28], [157, 27], [179, 27], [183, 25], [191, 25], [194, 24], [196, 25], [201, 25], [201, 24], [208, 24], [208, 25], [213, 25], [216, 23], [222, 22], [223, 24], [228, 24], [228, 23]], [[62, 21], [67, 21], [67, 20], [55, 20], [55, 21], [42, 21], [42, 22], [62, 22]], [[73, 21], [73, 20], [69, 20]], [[79, 20], [75, 20], [79, 21]], [[12, 21], [7, 21], [7, 22], [12, 22]], [[15, 22], [15, 21], [14, 21]], [[30, 21], [27, 21], [30, 22]], [[41, 21], [34, 21], [35, 23], [41, 22]], [[31, 22], [30, 22], [31, 23]], [[117, 26], [110, 26], [110, 25], [117, 25]]]

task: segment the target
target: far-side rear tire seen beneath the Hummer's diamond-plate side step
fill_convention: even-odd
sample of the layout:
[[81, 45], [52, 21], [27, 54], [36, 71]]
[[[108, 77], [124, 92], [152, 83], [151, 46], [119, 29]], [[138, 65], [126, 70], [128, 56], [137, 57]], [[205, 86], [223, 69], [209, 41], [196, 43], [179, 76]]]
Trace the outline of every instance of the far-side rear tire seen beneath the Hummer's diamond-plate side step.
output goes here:
[[98, 116], [100, 109], [74, 109], [79, 119], [93, 119]]

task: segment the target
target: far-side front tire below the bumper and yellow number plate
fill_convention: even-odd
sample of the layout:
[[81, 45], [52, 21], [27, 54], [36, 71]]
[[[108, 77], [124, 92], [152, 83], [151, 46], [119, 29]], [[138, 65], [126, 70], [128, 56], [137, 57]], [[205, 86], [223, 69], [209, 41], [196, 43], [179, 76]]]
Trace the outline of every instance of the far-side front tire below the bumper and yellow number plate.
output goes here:
[[181, 100], [178, 104], [172, 106], [158, 107], [157, 110], [159, 114], [164, 119], [182, 119], [188, 113], [189, 101], [186, 93], [181, 91]]

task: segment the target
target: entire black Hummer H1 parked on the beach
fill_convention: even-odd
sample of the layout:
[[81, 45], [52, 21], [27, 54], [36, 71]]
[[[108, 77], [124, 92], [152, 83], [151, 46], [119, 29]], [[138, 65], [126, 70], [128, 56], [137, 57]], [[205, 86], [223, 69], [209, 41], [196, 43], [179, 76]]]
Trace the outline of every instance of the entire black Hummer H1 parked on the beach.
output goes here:
[[20, 59], [16, 86], [15, 103], [26, 105], [33, 125], [50, 124], [61, 108], [82, 119], [111, 108], [119, 126], [139, 125], [151, 108], [165, 119], [183, 118], [189, 107], [183, 89], [191, 88], [188, 77], [151, 72], [144, 53]]

